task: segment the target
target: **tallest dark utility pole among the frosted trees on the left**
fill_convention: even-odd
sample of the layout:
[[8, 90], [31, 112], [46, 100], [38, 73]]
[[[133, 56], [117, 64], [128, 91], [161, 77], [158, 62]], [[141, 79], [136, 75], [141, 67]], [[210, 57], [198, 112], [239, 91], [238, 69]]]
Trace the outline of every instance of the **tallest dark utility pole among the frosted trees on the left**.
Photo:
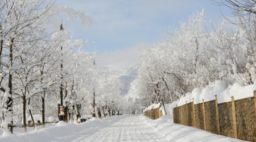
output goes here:
[[[63, 31], [63, 23], [61, 21], [60, 24], [60, 31]], [[61, 52], [61, 60], [60, 60], [60, 113], [59, 113], [59, 120], [64, 120], [64, 109], [63, 109], [63, 47], [61, 46], [60, 52]]]

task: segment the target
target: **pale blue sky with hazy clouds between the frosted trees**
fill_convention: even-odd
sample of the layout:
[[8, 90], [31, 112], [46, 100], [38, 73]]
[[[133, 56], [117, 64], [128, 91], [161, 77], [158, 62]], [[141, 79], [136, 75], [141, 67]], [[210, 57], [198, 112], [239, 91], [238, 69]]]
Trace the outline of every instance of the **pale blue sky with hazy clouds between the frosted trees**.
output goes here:
[[85, 51], [97, 51], [101, 69], [121, 72], [138, 60], [143, 47], [164, 41], [166, 31], [196, 11], [204, 10], [206, 21], [214, 25], [222, 22], [222, 14], [231, 14], [209, 0], [57, 0], [56, 5], [90, 15], [92, 26], [64, 19], [64, 28], [72, 30], [77, 39], [89, 40]]

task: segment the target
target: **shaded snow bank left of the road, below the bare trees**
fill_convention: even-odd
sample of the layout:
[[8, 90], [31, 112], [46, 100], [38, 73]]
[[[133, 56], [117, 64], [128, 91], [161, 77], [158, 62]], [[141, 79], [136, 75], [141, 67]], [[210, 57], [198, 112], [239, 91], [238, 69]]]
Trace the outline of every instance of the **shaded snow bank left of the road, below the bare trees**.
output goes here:
[[[47, 123], [46, 128], [37, 126], [36, 130], [34, 130], [32, 127], [27, 127], [27, 133], [23, 133], [23, 128], [15, 127], [13, 135], [0, 136], [0, 141], [84, 141], [86, 140], [86, 137], [92, 136], [94, 133], [104, 130], [104, 128], [118, 122], [119, 119], [122, 118], [109, 117], [80, 123], [79, 125], [65, 122], [59, 122], [57, 124]], [[2, 133], [0, 131], [0, 135], [1, 134]]]

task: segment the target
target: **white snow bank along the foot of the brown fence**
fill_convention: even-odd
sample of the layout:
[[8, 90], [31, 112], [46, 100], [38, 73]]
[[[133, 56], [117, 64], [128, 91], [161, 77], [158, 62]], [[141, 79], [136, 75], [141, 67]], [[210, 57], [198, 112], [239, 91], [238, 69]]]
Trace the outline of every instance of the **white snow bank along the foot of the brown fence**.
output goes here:
[[146, 117], [142, 119], [144, 119], [147, 126], [154, 128], [155, 133], [159, 134], [159, 138], [163, 137], [160, 141], [242, 141], [231, 137], [215, 135], [197, 128], [170, 123], [168, 116], [162, 116], [156, 120]]

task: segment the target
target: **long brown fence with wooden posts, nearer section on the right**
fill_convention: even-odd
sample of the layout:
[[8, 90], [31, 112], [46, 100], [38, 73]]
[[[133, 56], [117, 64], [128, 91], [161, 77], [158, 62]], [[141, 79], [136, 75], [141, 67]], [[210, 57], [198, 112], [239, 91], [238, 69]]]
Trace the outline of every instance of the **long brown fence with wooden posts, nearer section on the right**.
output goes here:
[[[174, 106], [175, 107], [175, 106]], [[254, 97], [218, 104], [186, 103], [174, 108], [174, 123], [241, 140], [256, 141], [256, 91]]]

